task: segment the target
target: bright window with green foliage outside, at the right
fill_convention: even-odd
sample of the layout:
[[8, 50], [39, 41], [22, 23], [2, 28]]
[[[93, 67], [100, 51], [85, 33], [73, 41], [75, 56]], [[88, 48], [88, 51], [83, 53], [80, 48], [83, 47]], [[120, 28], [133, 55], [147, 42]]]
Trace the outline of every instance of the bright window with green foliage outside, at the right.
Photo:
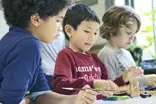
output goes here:
[[139, 0], [134, 1], [134, 9], [139, 13], [142, 19], [142, 27], [140, 33], [136, 36], [136, 45], [143, 48], [143, 60], [155, 58], [155, 0]]

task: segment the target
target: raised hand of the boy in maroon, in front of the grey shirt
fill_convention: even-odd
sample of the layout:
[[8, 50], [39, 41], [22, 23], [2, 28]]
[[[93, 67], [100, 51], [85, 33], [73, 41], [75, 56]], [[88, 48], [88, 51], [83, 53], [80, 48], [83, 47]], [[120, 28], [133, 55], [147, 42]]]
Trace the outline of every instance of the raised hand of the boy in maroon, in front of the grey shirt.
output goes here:
[[142, 76], [144, 71], [140, 67], [129, 67], [128, 70], [123, 72], [122, 77], [125, 82], [128, 82], [130, 79]]

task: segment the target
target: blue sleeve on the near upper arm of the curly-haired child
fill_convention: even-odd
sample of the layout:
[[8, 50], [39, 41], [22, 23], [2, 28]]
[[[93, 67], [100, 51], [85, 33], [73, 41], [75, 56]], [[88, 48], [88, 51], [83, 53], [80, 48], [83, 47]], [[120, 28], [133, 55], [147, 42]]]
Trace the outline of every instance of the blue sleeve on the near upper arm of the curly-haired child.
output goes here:
[[24, 39], [8, 54], [0, 86], [0, 102], [19, 104], [23, 100], [38, 65], [38, 44], [36, 39]]

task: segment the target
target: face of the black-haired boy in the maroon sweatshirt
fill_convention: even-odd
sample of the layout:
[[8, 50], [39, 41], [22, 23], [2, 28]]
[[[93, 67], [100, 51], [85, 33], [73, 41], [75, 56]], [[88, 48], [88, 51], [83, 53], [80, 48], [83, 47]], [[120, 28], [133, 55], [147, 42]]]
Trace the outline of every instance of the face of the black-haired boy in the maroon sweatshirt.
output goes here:
[[86, 52], [95, 44], [100, 24], [94, 21], [82, 21], [77, 30], [70, 33], [69, 47], [76, 52]]

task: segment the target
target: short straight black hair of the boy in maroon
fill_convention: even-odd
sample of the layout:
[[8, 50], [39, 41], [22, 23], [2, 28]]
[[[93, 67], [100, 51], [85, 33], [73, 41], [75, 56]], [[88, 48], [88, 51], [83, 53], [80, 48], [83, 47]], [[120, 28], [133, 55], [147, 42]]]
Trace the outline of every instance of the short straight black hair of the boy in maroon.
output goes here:
[[76, 4], [67, 10], [65, 18], [63, 20], [63, 32], [65, 33], [65, 37], [67, 40], [69, 40], [69, 37], [65, 32], [65, 25], [69, 24], [75, 30], [77, 30], [78, 25], [80, 25], [81, 22], [84, 20], [95, 21], [100, 24], [100, 20], [96, 15], [95, 11], [93, 11], [87, 5]]

